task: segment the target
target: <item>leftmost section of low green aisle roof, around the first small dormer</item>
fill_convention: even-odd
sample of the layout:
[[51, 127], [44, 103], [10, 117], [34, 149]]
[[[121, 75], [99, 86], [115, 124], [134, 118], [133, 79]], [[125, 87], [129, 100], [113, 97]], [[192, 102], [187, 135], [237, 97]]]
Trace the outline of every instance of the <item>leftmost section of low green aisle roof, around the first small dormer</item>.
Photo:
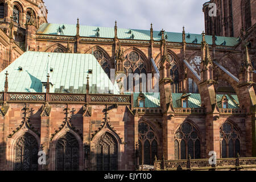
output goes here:
[[[159, 93], [143, 93], [145, 98], [145, 107], [160, 107], [160, 94]], [[133, 105], [137, 106], [137, 97], [139, 93], [133, 93]]]

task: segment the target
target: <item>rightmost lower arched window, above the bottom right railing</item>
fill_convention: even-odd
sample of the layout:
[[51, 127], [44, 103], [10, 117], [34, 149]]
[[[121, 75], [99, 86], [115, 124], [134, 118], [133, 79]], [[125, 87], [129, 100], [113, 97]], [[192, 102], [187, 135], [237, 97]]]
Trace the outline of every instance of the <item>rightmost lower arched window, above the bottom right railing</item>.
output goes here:
[[236, 158], [240, 153], [241, 137], [234, 125], [225, 122], [220, 129], [221, 158]]

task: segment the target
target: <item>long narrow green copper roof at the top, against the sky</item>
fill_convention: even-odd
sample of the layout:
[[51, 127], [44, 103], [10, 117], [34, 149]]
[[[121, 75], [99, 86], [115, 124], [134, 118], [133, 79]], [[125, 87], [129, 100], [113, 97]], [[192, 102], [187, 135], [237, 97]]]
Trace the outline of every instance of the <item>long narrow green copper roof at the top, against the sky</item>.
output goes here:
[[[73, 24], [54, 24], [54, 23], [43, 23], [37, 34], [46, 34], [46, 35], [58, 35], [57, 29], [59, 27], [65, 27], [62, 31], [64, 36], [75, 36], [76, 35], [76, 25]], [[100, 38], [114, 38], [114, 27], [94, 27], [94, 26], [81, 26], [80, 25], [80, 36], [84, 37], [96, 37], [97, 29], [99, 28]], [[154, 40], [160, 40], [159, 31], [153, 32]], [[59, 34], [60, 35], [60, 34]], [[118, 28], [117, 36], [119, 39], [130, 39], [131, 36], [134, 35], [135, 40], [150, 40], [150, 30], [136, 30], [136, 29], [126, 29], [126, 28]], [[175, 32], [166, 32], [167, 41], [168, 42], [182, 42], [182, 33]], [[200, 44], [202, 40], [201, 34], [189, 34], [185, 35], [185, 39], [187, 43], [197, 43]], [[237, 42], [237, 38], [216, 36], [216, 45], [223, 46], [235, 46]], [[196, 42], [197, 40], [197, 42]], [[205, 40], [208, 44], [212, 44], [212, 36], [206, 35]]]

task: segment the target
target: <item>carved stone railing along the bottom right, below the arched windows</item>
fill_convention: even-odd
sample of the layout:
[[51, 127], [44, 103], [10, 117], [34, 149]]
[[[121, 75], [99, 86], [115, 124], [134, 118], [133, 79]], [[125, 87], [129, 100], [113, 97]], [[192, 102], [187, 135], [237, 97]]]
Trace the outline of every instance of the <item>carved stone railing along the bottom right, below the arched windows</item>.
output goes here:
[[225, 168], [256, 168], [256, 158], [217, 159], [216, 164], [210, 164], [209, 159], [188, 160], [155, 160], [155, 170], [203, 170]]

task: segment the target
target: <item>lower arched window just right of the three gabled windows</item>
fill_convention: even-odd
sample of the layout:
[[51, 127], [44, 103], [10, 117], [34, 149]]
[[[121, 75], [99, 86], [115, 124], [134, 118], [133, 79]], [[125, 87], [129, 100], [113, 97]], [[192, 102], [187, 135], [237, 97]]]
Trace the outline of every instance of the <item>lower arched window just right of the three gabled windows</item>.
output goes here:
[[158, 139], [146, 122], [139, 123], [139, 164], [153, 165], [158, 156]]

